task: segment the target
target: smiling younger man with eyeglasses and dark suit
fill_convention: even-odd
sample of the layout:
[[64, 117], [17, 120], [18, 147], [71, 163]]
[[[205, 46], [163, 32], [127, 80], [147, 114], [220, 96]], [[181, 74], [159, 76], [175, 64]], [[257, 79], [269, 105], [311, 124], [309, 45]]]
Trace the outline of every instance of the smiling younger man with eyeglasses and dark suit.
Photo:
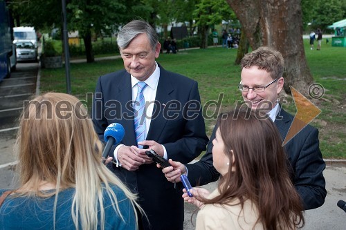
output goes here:
[[[293, 116], [286, 113], [277, 103], [277, 95], [284, 86], [284, 59], [280, 52], [270, 47], [260, 47], [244, 56], [241, 62], [241, 82], [244, 102], [252, 109], [267, 109], [268, 116], [280, 131], [282, 140], [286, 137], [293, 122]], [[167, 180], [180, 181], [179, 176], [188, 173], [192, 186], [208, 184], [219, 178], [219, 173], [212, 166], [212, 140], [215, 139], [214, 128], [206, 154], [199, 162], [186, 164], [180, 162], [163, 169]], [[251, 131], [244, 131], [251, 132]], [[256, 140], [249, 140], [256, 141]], [[293, 139], [285, 144], [284, 149], [289, 160], [291, 180], [302, 198], [304, 209], [316, 209], [325, 202], [325, 162], [319, 148], [318, 129], [307, 125]], [[287, 194], [289, 195], [289, 194]]]

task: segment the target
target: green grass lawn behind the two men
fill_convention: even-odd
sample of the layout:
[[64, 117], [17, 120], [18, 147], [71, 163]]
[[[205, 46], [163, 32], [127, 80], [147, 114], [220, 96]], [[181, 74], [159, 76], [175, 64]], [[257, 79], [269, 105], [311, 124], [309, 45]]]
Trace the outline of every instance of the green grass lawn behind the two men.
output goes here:
[[[329, 39], [330, 41], [331, 39]], [[322, 113], [313, 120], [313, 126], [320, 130], [320, 148], [325, 158], [346, 159], [346, 48], [331, 47], [331, 42], [322, 43], [322, 48], [310, 50], [308, 40], [304, 40], [305, 54], [315, 82], [325, 88], [325, 95], [312, 100]], [[219, 101], [222, 97], [220, 111], [227, 111], [242, 101], [237, 89], [240, 79], [240, 67], [234, 65], [237, 50], [226, 48], [208, 48], [206, 50], [179, 50], [176, 55], [161, 54], [157, 61], [166, 70], [181, 73], [199, 83], [202, 105], [210, 100]], [[114, 54], [117, 55], [117, 54]], [[91, 109], [91, 96], [95, 83], [101, 75], [123, 68], [122, 59], [96, 61], [93, 64], [71, 64], [72, 94], [86, 101]], [[41, 92], [66, 92], [64, 68], [42, 69]], [[284, 108], [295, 113], [291, 97]], [[210, 135], [215, 125], [217, 108], [209, 106], [203, 111], [206, 119], [207, 134]]]

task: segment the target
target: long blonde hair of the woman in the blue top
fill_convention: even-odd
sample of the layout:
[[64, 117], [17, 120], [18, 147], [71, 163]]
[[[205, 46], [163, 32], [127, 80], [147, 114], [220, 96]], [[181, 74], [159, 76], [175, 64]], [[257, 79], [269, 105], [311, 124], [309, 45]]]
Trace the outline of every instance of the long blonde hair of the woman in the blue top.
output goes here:
[[[55, 195], [54, 218], [59, 191], [67, 188], [75, 188], [71, 211], [76, 229], [97, 229], [98, 224], [104, 229], [102, 191], [107, 191], [113, 209], [122, 218], [111, 184], [124, 191], [135, 215], [136, 209], [141, 210], [136, 195], [102, 164], [102, 142], [76, 97], [46, 93], [31, 100], [20, 119], [16, 146], [21, 184], [17, 196]], [[54, 184], [55, 190], [43, 193], [42, 182]]]

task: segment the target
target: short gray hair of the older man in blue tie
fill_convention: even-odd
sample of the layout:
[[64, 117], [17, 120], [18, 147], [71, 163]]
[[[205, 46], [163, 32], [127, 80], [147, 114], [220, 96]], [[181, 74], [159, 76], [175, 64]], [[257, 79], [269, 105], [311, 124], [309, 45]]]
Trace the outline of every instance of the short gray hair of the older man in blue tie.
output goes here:
[[156, 31], [149, 25], [149, 23], [142, 20], [130, 21], [121, 28], [116, 39], [119, 49], [127, 48], [132, 39], [143, 33], [147, 35], [152, 49], [155, 50], [158, 43]]

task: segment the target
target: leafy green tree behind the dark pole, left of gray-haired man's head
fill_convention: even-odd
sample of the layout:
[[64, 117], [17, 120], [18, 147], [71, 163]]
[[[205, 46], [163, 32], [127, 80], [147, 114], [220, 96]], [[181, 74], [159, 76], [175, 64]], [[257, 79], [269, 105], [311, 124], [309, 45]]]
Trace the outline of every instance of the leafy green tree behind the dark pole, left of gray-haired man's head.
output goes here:
[[[78, 30], [84, 40], [86, 61], [93, 62], [91, 35], [109, 31], [129, 21], [136, 1], [134, 0], [69, 0], [67, 1], [68, 30]], [[35, 28], [62, 28], [61, 1], [12, 0], [12, 10], [17, 26], [22, 24]]]

